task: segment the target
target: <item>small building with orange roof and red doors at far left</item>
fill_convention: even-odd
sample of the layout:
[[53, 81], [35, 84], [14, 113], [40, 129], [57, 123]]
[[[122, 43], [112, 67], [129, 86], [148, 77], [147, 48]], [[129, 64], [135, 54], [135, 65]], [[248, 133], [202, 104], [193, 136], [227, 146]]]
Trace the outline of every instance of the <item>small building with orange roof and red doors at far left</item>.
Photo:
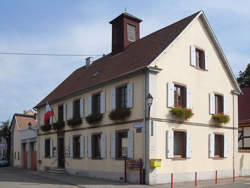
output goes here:
[[37, 120], [33, 111], [14, 114], [11, 124], [11, 160], [14, 167], [36, 169]]

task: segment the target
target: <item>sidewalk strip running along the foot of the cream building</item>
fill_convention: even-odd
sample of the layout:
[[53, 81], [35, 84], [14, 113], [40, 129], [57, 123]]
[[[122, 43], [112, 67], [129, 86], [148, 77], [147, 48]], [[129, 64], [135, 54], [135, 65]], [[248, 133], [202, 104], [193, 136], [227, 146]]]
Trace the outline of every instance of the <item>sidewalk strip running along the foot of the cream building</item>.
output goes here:
[[[97, 179], [97, 178], [89, 178], [83, 176], [75, 176], [70, 174], [48, 174], [46, 172], [38, 172], [38, 171], [28, 171], [28, 173], [42, 176], [45, 178], [49, 178], [58, 182], [63, 182], [71, 185], [75, 185], [81, 188], [170, 188], [170, 184], [163, 184], [163, 185], [138, 185], [138, 184], [125, 184], [122, 182], [114, 182], [109, 180]], [[235, 180], [235, 184], [244, 184], [250, 183], [249, 177], [238, 177]], [[198, 181], [198, 186], [196, 187], [220, 187], [220, 185], [232, 185], [233, 179], [219, 179], [218, 184], [215, 185], [214, 180], [203, 180]], [[194, 182], [184, 182], [184, 183], [175, 183], [174, 188], [195, 188]]]

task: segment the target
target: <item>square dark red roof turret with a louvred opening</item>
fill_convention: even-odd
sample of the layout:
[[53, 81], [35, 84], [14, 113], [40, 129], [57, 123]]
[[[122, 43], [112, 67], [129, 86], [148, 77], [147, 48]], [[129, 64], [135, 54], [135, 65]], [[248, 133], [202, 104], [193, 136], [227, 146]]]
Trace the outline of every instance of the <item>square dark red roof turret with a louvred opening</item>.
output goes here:
[[141, 21], [125, 12], [109, 22], [112, 24], [112, 55], [123, 51], [129, 44], [140, 39]]

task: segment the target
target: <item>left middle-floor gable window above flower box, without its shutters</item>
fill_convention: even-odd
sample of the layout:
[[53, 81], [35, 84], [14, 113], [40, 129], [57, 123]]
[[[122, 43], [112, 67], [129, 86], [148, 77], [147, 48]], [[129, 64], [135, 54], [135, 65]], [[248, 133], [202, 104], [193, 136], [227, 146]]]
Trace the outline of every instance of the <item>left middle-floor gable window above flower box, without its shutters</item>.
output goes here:
[[186, 107], [186, 88], [174, 85], [174, 106]]

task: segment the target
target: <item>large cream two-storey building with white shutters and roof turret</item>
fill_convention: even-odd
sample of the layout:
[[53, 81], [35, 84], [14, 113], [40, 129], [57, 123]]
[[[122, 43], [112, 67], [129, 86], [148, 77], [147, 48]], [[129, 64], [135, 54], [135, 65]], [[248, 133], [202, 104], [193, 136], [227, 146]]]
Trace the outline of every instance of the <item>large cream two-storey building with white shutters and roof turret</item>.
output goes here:
[[[44, 130], [39, 169], [119, 181], [124, 159], [142, 159], [148, 184], [168, 183], [171, 173], [175, 182], [194, 180], [195, 172], [199, 180], [212, 179], [216, 170], [232, 177], [241, 90], [204, 13], [142, 39], [140, 22], [127, 13], [112, 20], [112, 52], [87, 61], [36, 106]], [[55, 118], [44, 126], [46, 102]], [[192, 109], [193, 117], [177, 120], [175, 106]], [[229, 115], [229, 123], [217, 125], [217, 113]], [[63, 121], [65, 128], [48, 130]], [[150, 167], [152, 159], [161, 166]], [[139, 181], [138, 171], [127, 175]]]

